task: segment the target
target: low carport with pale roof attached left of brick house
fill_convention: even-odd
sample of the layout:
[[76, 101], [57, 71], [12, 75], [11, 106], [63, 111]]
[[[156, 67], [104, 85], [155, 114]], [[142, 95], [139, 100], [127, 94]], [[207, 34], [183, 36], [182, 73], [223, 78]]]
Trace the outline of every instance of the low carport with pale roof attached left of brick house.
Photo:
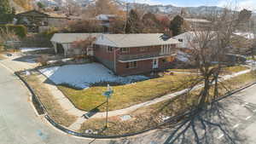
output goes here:
[[[55, 35], [50, 39], [55, 49], [55, 54], [59, 55], [73, 55], [73, 43], [81, 40], [85, 40], [88, 37], [98, 37], [101, 33], [55, 33]], [[80, 52], [82, 53], [82, 52]], [[88, 49], [87, 54], [93, 55], [92, 49]]]

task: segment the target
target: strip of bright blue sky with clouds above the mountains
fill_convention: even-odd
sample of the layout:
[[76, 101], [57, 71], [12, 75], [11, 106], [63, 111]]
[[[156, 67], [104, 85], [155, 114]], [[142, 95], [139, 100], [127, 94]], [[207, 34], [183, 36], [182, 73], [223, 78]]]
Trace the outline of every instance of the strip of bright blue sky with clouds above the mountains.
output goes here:
[[172, 4], [179, 7], [197, 7], [201, 5], [224, 7], [232, 5], [239, 9], [256, 11], [256, 0], [129, 0], [136, 3]]

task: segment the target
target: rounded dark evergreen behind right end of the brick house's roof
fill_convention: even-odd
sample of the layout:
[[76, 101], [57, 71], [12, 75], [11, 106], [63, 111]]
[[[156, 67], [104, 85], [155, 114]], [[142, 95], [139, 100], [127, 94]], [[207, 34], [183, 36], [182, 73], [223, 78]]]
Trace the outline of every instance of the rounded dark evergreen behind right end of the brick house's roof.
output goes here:
[[183, 17], [177, 15], [170, 22], [169, 29], [172, 31], [173, 36], [177, 36], [184, 32], [184, 20]]

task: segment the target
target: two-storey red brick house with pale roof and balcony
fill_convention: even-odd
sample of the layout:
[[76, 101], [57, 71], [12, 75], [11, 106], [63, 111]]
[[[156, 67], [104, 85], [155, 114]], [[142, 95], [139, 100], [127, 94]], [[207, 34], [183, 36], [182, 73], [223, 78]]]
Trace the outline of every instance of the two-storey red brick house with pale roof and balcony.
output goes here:
[[176, 39], [161, 33], [102, 34], [94, 44], [94, 56], [118, 75], [132, 75], [172, 66]]

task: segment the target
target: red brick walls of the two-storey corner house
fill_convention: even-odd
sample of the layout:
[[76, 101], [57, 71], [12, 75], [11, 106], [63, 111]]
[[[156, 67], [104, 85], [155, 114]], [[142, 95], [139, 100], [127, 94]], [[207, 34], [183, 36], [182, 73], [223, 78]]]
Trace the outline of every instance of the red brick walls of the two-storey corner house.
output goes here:
[[[141, 51], [140, 49], [146, 48], [147, 50]], [[174, 47], [173, 47], [174, 48]], [[127, 76], [139, 73], [152, 72], [153, 60], [137, 60], [137, 67], [127, 68], [127, 62], [120, 62], [119, 55], [138, 55], [138, 54], [150, 54], [150, 53], [160, 53], [161, 46], [151, 46], [151, 47], [138, 47], [129, 48], [126, 53], [121, 53], [119, 48], [114, 48], [112, 52], [108, 52], [107, 48], [101, 48], [99, 45], [95, 45], [94, 54], [96, 60], [101, 62], [104, 66], [107, 66], [113, 72], [116, 70], [116, 74], [120, 76]], [[116, 67], [114, 67], [114, 51], [116, 51]], [[164, 62], [166, 58], [159, 58], [158, 69], [164, 70], [166, 68], [172, 67], [172, 62]]]

